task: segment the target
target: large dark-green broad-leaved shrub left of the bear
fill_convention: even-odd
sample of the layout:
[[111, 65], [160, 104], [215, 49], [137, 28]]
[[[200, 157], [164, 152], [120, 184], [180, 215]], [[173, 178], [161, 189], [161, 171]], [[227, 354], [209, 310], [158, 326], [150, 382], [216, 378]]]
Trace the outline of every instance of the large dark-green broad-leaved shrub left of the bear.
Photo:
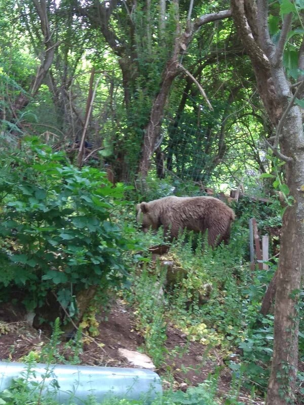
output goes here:
[[2, 159], [2, 291], [17, 287], [28, 310], [54, 293], [72, 316], [78, 293], [119, 285], [127, 275], [122, 255], [133, 245], [111, 214], [125, 187], [113, 188], [97, 169], [67, 164], [35, 138]]

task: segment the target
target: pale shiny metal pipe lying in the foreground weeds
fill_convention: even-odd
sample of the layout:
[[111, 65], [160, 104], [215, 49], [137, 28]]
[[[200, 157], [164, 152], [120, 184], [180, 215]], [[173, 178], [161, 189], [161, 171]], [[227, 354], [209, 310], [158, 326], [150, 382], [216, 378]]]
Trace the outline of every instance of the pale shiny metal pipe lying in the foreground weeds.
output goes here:
[[110, 397], [140, 399], [146, 403], [162, 395], [160, 377], [153, 371], [119, 367], [46, 365], [37, 363], [30, 367], [25, 363], [0, 361], [0, 392], [10, 388], [14, 379], [25, 378], [28, 384], [39, 383], [37, 390], [43, 395], [54, 392], [54, 399], [60, 404], [68, 403], [71, 398], [76, 404], [83, 404], [93, 395], [98, 402]]

